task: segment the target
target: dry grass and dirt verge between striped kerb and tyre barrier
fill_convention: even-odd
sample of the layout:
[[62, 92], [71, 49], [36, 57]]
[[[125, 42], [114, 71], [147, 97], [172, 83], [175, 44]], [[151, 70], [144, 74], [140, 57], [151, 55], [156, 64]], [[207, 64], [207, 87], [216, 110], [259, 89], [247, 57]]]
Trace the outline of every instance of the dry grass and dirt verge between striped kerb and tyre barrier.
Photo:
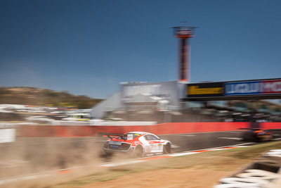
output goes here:
[[281, 142], [208, 151], [110, 168], [107, 172], [96, 173], [52, 188], [213, 187], [221, 177], [233, 174], [270, 149], [281, 149]]

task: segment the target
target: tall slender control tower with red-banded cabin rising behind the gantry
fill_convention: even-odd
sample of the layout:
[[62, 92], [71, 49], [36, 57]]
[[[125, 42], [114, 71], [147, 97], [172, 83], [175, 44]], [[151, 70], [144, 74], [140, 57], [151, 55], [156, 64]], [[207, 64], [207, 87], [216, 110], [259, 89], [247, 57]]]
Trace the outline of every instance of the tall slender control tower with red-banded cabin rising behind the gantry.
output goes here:
[[174, 29], [174, 37], [179, 40], [179, 62], [178, 62], [178, 81], [190, 81], [190, 42], [189, 39], [194, 37], [194, 29], [197, 27], [171, 27]]

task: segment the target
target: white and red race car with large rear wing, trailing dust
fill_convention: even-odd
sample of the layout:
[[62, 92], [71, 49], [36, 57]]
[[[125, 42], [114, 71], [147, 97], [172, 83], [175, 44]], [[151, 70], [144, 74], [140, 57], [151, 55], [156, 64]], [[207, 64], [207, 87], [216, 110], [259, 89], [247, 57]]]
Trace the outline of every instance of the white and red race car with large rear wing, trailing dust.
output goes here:
[[149, 132], [127, 132], [125, 134], [98, 132], [98, 137], [103, 137], [103, 135], [109, 138], [103, 144], [103, 151], [107, 155], [124, 152], [134, 158], [141, 158], [172, 151], [171, 142], [160, 139]]

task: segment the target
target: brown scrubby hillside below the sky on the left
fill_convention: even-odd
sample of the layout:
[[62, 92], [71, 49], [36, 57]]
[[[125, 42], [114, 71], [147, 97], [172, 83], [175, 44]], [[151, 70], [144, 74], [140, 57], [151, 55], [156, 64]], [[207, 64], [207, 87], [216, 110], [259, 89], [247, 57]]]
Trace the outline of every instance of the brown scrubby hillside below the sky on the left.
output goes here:
[[32, 106], [60, 106], [92, 108], [103, 99], [73, 95], [67, 91], [53, 91], [36, 87], [0, 87], [0, 104], [24, 104]]

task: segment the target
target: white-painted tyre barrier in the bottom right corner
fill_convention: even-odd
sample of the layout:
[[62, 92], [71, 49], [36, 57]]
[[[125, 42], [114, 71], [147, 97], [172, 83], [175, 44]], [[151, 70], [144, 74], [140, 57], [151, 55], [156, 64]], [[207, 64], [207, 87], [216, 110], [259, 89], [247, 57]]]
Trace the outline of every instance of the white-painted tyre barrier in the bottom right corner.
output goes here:
[[253, 163], [229, 177], [223, 177], [214, 188], [281, 187], [281, 149], [272, 149]]

